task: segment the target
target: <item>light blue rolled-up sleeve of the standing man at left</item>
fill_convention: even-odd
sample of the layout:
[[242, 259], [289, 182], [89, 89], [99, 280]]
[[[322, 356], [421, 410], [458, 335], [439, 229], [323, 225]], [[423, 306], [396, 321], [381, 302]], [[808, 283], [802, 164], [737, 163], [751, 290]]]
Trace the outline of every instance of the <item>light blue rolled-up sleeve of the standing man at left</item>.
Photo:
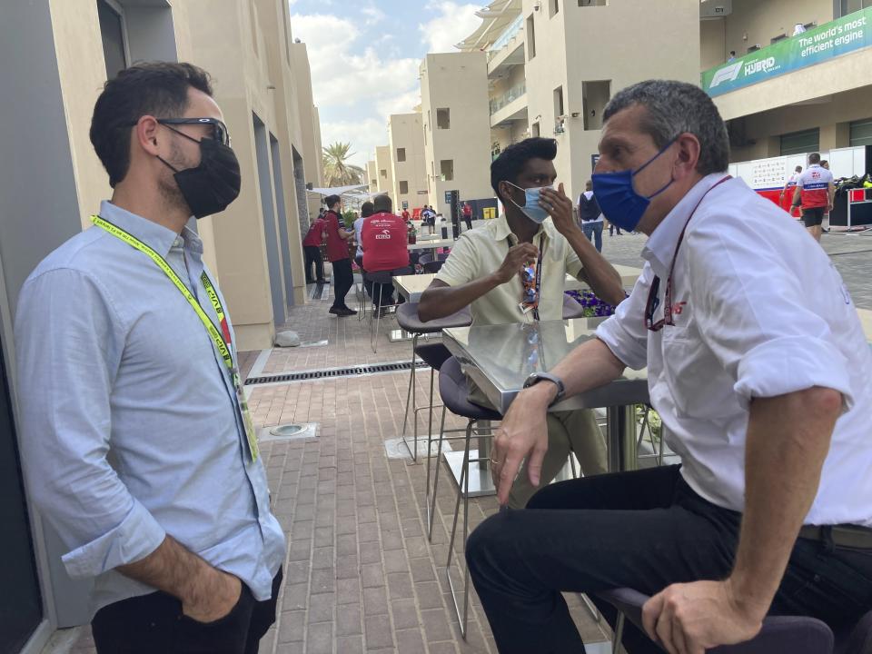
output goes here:
[[124, 334], [89, 275], [60, 269], [25, 282], [15, 316], [22, 464], [74, 578], [143, 559], [166, 536], [107, 461]]

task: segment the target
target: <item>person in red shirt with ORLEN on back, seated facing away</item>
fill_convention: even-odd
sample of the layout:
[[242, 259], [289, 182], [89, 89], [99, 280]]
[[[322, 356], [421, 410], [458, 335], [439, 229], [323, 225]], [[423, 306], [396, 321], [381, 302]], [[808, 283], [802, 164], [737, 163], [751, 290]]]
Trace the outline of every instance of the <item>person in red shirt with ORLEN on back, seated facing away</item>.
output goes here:
[[[396, 271], [409, 266], [409, 236], [406, 222], [391, 213], [391, 198], [376, 195], [373, 213], [363, 222], [363, 270], [366, 272]], [[384, 307], [393, 304], [391, 284], [373, 284], [372, 302]]]

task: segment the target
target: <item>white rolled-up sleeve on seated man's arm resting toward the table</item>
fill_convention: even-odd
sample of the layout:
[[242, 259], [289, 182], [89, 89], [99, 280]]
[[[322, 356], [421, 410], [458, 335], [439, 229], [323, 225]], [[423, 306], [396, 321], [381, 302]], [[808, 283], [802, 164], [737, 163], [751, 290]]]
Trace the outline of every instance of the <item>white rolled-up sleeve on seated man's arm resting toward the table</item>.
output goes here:
[[633, 292], [621, 302], [615, 314], [597, 328], [597, 338], [604, 342], [620, 362], [633, 370], [648, 365], [648, 330], [645, 328], [645, 304], [654, 273], [646, 264]]

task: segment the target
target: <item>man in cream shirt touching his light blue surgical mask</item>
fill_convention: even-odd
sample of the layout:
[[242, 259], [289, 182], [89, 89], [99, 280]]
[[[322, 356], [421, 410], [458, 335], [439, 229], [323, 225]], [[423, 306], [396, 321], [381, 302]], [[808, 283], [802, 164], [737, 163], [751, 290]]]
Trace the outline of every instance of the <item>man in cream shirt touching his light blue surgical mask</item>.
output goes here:
[[[557, 173], [553, 139], [530, 138], [510, 145], [490, 165], [490, 183], [505, 206], [499, 218], [461, 235], [436, 279], [421, 296], [421, 320], [441, 318], [471, 307], [473, 324], [560, 320], [566, 273], [590, 282], [605, 302], [624, 297], [620, 276], [581, 233], [572, 202], [551, 188]], [[529, 281], [522, 282], [527, 271]], [[537, 305], [522, 308], [525, 292]], [[490, 406], [470, 380], [470, 401]], [[539, 483], [551, 481], [570, 448], [586, 476], [606, 471], [605, 442], [592, 411], [549, 414], [549, 454], [541, 479], [521, 475], [509, 504], [522, 508]]]

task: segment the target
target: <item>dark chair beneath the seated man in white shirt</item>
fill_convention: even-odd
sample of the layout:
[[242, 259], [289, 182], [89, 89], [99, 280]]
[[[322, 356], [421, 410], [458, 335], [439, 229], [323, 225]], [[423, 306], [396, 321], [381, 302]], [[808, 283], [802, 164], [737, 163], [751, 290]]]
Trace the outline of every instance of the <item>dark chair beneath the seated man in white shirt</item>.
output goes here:
[[[626, 619], [639, 629], [642, 627], [642, 606], [649, 599], [638, 590], [603, 590], [596, 597], [618, 609], [611, 650], [619, 651]], [[835, 645], [835, 648], [834, 648]], [[709, 649], [708, 654], [872, 654], [872, 611], [867, 612], [853, 628], [840, 631], [836, 636], [827, 624], [816, 618], [799, 616], [771, 616], [763, 620], [758, 635], [738, 645], [723, 645]]]

